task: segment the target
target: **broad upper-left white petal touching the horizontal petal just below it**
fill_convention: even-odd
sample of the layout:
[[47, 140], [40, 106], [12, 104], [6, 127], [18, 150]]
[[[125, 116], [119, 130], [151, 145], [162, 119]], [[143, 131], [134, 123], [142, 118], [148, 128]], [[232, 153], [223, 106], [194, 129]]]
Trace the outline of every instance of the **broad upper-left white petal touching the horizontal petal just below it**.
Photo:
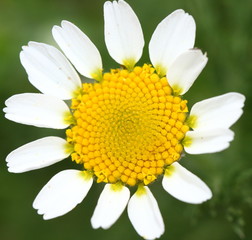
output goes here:
[[43, 43], [29, 42], [20, 53], [29, 81], [42, 93], [71, 99], [81, 87], [81, 81], [65, 58], [55, 47]]

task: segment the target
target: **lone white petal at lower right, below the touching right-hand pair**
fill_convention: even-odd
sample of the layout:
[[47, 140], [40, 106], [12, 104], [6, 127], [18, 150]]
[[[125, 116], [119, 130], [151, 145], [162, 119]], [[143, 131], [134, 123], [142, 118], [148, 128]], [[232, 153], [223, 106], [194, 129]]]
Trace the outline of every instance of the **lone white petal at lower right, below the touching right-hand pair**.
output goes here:
[[199, 204], [212, 197], [211, 190], [200, 178], [176, 162], [166, 170], [162, 185], [173, 197], [187, 203]]

